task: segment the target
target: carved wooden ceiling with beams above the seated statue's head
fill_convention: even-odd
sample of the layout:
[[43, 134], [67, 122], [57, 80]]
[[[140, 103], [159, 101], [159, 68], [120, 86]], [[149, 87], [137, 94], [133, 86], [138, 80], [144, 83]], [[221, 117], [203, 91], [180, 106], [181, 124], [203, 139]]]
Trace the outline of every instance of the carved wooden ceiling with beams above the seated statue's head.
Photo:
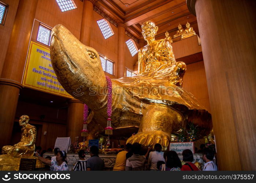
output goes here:
[[157, 36], [166, 31], [173, 36], [178, 24], [185, 28], [187, 21], [198, 34], [196, 16], [189, 12], [186, 0], [98, 0], [95, 5], [117, 23], [124, 23], [137, 38], [142, 37], [141, 25], [146, 20], [159, 27]]

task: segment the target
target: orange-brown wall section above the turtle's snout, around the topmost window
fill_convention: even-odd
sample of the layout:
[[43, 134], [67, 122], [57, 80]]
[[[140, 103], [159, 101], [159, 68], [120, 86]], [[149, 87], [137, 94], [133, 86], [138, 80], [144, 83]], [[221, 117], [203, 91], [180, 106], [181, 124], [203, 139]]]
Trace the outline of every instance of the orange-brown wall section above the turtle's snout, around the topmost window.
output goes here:
[[80, 0], [74, 0], [74, 2], [77, 5], [76, 9], [62, 12], [56, 1], [38, 0], [35, 19], [50, 27], [62, 24], [79, 39], [83, 2]]

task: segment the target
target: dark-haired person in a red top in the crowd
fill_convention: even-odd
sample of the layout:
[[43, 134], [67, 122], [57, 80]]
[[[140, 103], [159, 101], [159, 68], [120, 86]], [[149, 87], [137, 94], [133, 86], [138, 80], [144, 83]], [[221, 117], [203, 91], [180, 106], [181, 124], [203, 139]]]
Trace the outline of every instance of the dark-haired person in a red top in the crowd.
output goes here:
[[192, 163], [194, 161], [193, 153], [189, 149], [185, 149], [182, 152], [183, 161], [185, 164], [181, 167], [182, 171], [199, 171], [199, 169]]

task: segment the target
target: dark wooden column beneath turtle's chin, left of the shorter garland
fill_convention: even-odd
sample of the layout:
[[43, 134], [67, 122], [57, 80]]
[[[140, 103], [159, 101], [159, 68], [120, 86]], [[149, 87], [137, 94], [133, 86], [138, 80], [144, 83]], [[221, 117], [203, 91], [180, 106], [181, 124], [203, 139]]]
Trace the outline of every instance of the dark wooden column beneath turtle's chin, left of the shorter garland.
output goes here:
[[75, 142], [75, 137], [82, 141], [81, 130], [84, 122], [84, 103], [73, 98], [68, 101], [67, 115], [67, 137], [71, 137], [71, 142]]

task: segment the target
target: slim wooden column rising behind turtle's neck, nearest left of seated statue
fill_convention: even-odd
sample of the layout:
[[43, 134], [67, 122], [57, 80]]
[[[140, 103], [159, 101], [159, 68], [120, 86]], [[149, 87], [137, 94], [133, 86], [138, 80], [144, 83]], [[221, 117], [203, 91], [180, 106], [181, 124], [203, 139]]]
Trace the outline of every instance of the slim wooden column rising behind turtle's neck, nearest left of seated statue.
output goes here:
[[118, 23], [118, 51], [117, 51], [117, 78], [125, 76], [125, 28], [123, 23]]

